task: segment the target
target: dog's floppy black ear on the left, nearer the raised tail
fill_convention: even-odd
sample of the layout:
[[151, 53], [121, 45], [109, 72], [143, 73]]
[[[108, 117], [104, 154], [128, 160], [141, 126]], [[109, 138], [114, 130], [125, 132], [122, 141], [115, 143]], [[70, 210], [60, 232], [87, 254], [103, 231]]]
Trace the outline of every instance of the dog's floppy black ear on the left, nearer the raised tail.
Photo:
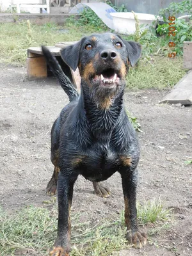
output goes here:
[[79, 54], [81, 50], [81, 41], [77, 42], [74, 45], [70, 45], [66, 48], [61, 49], [60, 54], [61, 58], [65, 63], [72, 68], [72, 70], [76, 70], [79, 64]]

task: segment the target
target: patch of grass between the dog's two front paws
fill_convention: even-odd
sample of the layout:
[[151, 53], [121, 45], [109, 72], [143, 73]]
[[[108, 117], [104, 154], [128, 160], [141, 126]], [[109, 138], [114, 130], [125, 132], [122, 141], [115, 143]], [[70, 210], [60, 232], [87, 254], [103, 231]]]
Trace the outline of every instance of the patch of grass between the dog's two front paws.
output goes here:
[[[79, 235], [72, 236], [72, 256], [108, 256], [130, 247], [125, 240], [125, 227], [121, 227], [119, 221], [104, 220], [91, 228], [90, 225], [81, 225]], [[77, 230], [76, 225], [74, 230]]]

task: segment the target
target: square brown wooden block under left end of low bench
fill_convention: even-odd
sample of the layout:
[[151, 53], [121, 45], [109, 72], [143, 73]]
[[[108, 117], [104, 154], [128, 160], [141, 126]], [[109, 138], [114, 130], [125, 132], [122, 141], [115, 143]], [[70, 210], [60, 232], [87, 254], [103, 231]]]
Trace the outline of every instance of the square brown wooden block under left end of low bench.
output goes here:
[[44, 56], [27, 58], [28, 79], [38, 79], [47, 77], [47, 63]]

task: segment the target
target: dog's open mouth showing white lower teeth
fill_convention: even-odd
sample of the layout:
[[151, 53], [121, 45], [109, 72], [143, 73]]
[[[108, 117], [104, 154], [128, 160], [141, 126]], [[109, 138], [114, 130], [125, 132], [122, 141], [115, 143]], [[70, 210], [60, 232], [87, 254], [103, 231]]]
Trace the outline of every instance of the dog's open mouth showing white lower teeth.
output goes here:
[[118, 84], [118, 82], [120, 81], [120, 77], [118, 76], [118, 74], [116, 74], [113, 68], [108, 68], [104, 70], [101, 74], [97, 74], [93, 78], [93, 81], [99, 82], [104, 86], [113, 86], [115, 84]]

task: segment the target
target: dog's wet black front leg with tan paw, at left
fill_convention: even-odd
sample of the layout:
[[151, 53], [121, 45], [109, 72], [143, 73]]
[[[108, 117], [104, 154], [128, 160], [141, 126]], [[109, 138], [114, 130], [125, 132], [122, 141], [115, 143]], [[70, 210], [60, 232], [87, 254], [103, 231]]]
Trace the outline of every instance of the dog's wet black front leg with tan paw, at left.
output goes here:
[[70, 207], [76, 179], [77, 175], [74, 172], [60, 170], [58, 175], [58, 237], [49, 252], [49, 256], [69, 256], [71, 231]]

